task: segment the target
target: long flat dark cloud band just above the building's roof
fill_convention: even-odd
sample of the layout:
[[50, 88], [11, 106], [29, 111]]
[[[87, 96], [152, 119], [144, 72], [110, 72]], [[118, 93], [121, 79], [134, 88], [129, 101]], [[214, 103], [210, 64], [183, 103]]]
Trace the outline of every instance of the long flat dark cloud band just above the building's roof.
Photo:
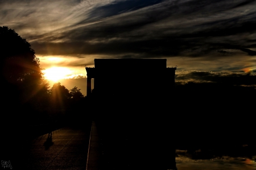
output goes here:
[[[196, 40], [196, 39], [194, 39]], [[143, 57], [163, 56], [208, 56], [210, 53], [220, 55], [239, 54], [228, 52], [225, 49], [239, 49], [249, 56], [255, 56], [254, 50], [240, 48], [229, 44], [207, 44], [194, 42], [188, 39], [171, 40], [141, 40], [141, 41], [118, 41], [110, 42], [32, 42], [32, 47], [38, 54], [46, 55], [67, 55], [67, 54], [119, 54], [126, 56], [127, 53], [138, 54]]]

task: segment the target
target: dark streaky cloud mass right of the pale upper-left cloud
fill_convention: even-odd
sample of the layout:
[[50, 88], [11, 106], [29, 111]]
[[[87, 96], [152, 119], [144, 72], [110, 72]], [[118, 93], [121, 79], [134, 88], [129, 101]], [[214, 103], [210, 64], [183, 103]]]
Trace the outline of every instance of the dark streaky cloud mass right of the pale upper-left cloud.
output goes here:
[[[254, 1], [120, 1], [90, 10], [98, 23], [41, 35], [39, 54], [141, 54], [161, 56], [255, 56]], [[122, 15], [121, 15], [122, 14]], [[97, 21], [97, 19], [94, 19]], [[32, 38], [32, 37], [31, 37]], [[36, 45], [39, 44], [39, 45]], [[40, 47], [42, 46], [42, 47]], [[47, 46], [47, 49], [43, 49]], [[48, 50], [48, 49], [51, 50]]]

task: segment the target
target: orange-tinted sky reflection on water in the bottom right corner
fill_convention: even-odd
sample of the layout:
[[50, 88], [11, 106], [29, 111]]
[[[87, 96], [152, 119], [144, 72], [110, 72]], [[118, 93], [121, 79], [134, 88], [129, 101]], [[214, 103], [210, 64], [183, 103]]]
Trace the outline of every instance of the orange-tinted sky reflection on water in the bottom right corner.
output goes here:
[[176, 150], [177, 169], [256, 169], [256, 155], [234, 157], [218, 156], [213, 153], [201, 150]]

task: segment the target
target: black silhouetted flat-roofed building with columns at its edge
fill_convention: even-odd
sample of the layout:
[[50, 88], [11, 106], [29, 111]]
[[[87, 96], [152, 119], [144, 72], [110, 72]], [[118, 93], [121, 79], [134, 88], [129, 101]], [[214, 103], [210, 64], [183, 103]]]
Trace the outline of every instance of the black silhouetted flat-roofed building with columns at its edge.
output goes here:
[[175, 70], [167, 68], [167, 59], [94, 59], [95, 67], [86, 67], [87, 95], [94, 90], [99, 94], [116, 93], [163, 95], [174, 87]]

